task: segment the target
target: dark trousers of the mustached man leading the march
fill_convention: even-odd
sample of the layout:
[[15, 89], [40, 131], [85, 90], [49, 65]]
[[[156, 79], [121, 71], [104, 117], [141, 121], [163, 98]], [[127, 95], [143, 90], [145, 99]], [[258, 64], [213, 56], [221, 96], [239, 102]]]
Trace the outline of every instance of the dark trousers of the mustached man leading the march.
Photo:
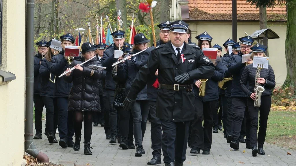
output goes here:
[[163, 130], [161, 146], [163, 149], [163, 162], [184, 162], [188, 140], [189, 121], [172, 122], [160, 119]]

